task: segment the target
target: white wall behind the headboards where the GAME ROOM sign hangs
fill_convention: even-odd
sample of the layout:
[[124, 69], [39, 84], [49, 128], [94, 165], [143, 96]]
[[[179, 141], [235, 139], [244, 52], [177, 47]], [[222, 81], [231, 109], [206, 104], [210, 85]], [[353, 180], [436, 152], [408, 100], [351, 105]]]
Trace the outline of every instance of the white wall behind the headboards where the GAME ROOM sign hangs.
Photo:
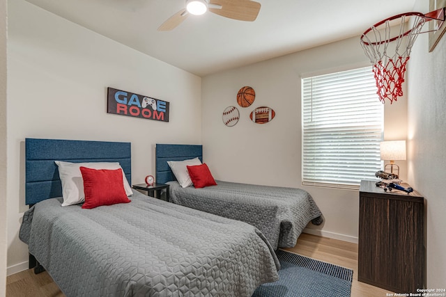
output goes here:
[[[19, 232], [24, 138], [132, 143], [132, 182], [155, 172], [155, 143], [201, 143], [201, 79], [52, 15], [9, 1], [8, 274], [26, 268]], [[170, 102], [170, 122], [106, 113], [107, 87]], [[1, 125], [3, 126], [3, 125]]]

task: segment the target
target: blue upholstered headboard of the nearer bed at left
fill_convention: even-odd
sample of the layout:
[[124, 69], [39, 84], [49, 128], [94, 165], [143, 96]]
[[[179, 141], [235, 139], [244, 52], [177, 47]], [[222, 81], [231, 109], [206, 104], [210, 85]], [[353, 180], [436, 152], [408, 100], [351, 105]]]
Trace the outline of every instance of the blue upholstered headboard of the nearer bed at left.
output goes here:
[[119, 162], [132, 184], [131, 156], [131, 143], [26, 138], [26, 204], [62, 196], [59, 169], [54, 161]]

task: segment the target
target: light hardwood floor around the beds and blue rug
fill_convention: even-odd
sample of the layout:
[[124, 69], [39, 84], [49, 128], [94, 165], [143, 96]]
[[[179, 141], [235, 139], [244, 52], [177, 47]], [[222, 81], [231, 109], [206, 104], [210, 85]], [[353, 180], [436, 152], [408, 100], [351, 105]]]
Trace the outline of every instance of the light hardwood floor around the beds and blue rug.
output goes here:
[[[357, 281], [357, 244], [355, 243], [303, 233], [300, 235], [298, 243], [294, 248], [286, 248], [284, 250], [353, 269], [351, 297], [384, 297], [387, 293], [392, 293]], [[35, 275], [29, 269], [8, 276], [6, 280], [6, 296], [60, 297], [64, 295], [46, 271]]]

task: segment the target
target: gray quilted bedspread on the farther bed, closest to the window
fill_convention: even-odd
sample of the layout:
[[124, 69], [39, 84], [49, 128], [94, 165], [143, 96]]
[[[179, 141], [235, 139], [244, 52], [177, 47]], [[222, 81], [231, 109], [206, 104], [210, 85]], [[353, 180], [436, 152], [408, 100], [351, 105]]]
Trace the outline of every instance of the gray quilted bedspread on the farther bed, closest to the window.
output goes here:
[[307, 191], [300, 188], [260, 186], [216, 181], [217, 186], [181, 188], [170, 184], [170, 200], [257, 227], [272, 248], [292, 248], [305, 226], [323, 222], [321, 211]]

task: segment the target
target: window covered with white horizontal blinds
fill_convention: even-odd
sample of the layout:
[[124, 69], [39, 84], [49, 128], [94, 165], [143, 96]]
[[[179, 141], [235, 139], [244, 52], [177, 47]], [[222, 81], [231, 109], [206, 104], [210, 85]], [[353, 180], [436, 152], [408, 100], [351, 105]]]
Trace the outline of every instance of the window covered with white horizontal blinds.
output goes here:
[[383, 104], [371, 67], [302, 79], [302, 184], [357, 188], [381, 168]]

